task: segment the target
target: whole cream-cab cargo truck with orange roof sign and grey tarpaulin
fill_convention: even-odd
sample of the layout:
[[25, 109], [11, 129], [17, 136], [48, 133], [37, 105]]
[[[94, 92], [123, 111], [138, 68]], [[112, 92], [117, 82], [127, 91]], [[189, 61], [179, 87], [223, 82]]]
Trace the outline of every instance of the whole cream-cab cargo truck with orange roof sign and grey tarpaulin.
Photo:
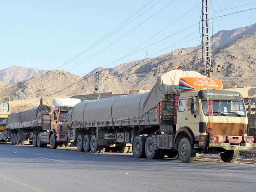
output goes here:
[[132, 144], [135, 157], [220, 154], [234, 162], [238, 150], [256, 146], [239, 92], [194, 71], [172, 70], [150, 92], [82, 101], [68, 112], [69, 140], [78, 151], [102, 153], [106, 146]]

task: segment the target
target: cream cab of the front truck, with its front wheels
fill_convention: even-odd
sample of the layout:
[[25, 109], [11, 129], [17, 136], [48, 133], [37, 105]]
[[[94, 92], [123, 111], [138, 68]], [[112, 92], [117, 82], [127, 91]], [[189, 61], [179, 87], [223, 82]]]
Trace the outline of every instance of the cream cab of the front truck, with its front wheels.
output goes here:
[[233, 162], [238, 150], [256, 147], [254, 136], [247, 136], [242, 95], [206, 85], [199, 88], [183, 91], [179, 97], [174, 140], [181, 160], [190, 162], [196, 153], [220, 153], [224, 162]]

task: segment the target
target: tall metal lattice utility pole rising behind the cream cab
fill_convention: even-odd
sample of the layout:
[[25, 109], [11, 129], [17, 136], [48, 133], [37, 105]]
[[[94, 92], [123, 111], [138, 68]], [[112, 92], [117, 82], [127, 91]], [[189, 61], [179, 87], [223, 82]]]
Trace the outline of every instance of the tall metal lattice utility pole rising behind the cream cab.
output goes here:
[[211, 43], [209, 24], [209, 0], [202, 0], [202, 65], [201, 73], [212, 77]]

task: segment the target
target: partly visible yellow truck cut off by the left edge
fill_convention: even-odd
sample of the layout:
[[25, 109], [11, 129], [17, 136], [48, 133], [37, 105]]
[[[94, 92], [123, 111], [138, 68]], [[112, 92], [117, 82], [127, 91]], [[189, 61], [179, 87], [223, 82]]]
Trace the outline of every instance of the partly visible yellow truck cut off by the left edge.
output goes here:
[[9, 104], [0, 103], [0, 142], [7, 142], [6, 119], [10, 115]]

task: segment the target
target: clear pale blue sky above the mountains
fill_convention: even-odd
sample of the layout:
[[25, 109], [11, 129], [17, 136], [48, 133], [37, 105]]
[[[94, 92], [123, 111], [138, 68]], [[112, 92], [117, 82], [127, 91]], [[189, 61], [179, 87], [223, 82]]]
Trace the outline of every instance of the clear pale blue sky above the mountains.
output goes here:
[[[84, 76], [97, 67], [112, 68], [144, 59], [146, 52], [149, 57], [156, 57], [175, 48], [197, 46], [200, 41], [201, 24], [196, 23], [200, 21], [201, 0], [0, 2], [0, 70], [17, 65], [39, 70], [65, 70]], [[212, 18], [255, 8], [256, 0], [210, 0], [209, 5]], [[235, 8], [240, 5], [244, 6]], [[223, 9], [229, 10], [218, 11]], [[212, 19], [210, 33], [249, 26], [256, 23], [255, 18], [256, 10], [252, 10]], [[193, 24], [196, 25], [188, 28]], [[116, 27], [119, 30], [111, 32]], [[109, 32], [109, 35], [115, 33], [90, 48]], [[86, 49], [86, 52], [71, 60]], [[120, 59], [129, 52], [135, 53]]]

